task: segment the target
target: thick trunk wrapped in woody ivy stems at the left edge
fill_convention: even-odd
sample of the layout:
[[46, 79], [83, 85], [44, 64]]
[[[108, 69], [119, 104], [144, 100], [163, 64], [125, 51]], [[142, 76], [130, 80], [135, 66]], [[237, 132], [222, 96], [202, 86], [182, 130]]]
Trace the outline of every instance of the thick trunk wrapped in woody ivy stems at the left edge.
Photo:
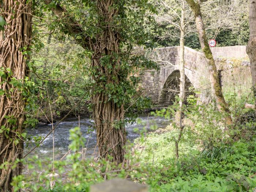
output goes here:
[[23, 153], [25, 100], [18, 86], [27, 76], [25, 54], [31, 42], [31, 4], [26, 0], [4, 0], [0, 15], [7, 25], [0, 32], [0, 191], [13, 191], [11, 181], [21, 174], [22, 164], [12, 167]]

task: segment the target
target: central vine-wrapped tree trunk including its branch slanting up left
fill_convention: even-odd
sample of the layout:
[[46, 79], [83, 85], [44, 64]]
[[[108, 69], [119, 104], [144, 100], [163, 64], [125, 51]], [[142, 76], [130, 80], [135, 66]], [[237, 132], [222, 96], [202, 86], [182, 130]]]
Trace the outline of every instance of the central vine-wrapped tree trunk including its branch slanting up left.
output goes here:
[[[45, 0], [46, 4], [52, 0]], [[118, 15], [118, 8], [113, 6], [114, 0], [97, 0], [97, 14], [99, 26], [102, 32], [95, 38], [85, 35], [82, 27], [67, 11], [59, 4], [51, 6], [51, 10], [65, 23], [68, 33], [84, 49], [93, 50], [91, 66], [95, 81], [91, 95], [93, 104], [94, 127], [97, 135], [100, 158], [121, 163], [124, 160], [124, 145], [126, 143], [126, 133], [124, 126], [124, 106], [123, 102], [118, 102], [116, 95], [124, 94], [120, 84], [120, 59], [119, 42], [120, 34], [118, 28], [109, 25], [113, 18]], [[103, 24], [102, 24], [103, 23]], [[103, 25], [103, 26], [102, 26]], [[79, 35], [82, 39], [78, 39]], [[115, 98], [114, 98], [115, 97]]]

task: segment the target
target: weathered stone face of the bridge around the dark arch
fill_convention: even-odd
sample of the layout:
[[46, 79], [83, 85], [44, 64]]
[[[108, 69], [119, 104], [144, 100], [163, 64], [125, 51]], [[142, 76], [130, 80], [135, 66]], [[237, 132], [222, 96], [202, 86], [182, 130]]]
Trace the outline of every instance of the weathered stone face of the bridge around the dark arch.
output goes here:
[[[199, 88], [200, 82], [195, 77], [202, 74], [207, 76], [206, 61], [203, 53], [188, 47], [185, 47], [184, 51], [185, 75], [195, 88]], [[160, 71], [144, 71], [142, 86], [145, 94], [151, 97], [155, 104], [163, 105], [162, 90], [166, 80], [174, 71], [179, 69], [180, 47], [172, 46], [155, 49], [152, 53], [152, 59], [160, 65]], [[169, 104], [169, 101], [170, 99], [166, 99], [166, 102], [168, 102], [166, 105]]]

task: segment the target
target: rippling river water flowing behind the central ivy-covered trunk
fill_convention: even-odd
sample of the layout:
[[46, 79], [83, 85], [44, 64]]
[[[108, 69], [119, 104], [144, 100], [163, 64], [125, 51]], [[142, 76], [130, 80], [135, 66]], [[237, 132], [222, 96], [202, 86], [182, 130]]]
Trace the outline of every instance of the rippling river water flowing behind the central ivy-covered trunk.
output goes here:
[[[142, 120], [142, 124], [133, 123], [126, 126], [126, 131], [128, 132], [127, 140], [130, 142], [133, 142], [134, 139], [140, 136], [138, 132], [134, 131], [135, 128], [142, 129], [143, 127], [146, 127], [147, 129], [150, 129], [150, 125], [153, 124], [156, 124], [158, 128], [163, 128], [168, 124], [168, 121], [161, 117], [141, 115], [139, 118]], [[93, 126], [93, 120], [88, 117], [84, 117], [80, 118], [79, 122], [78, 118], [68, 118], [54, 129], [54, 157], [56, 160], [59, 160], [67, 153], [68, 145], [71, 143], [69, 140], [69, 130], [74, 127], [78, 127], [79, 123], [82, 136], [86, 138], [86, 157], [91, 157], [94, 154], [96, 134], [95, 132], [89, 131]], [[44, 138], [51, 129], [52, 125], [50, 124], [38, 125], [37, 128], [27, 130], [27, 134], [30, 136], [42, 136]], [[24, 154], [26, 154], [30, 148], [31, 146], [28, 146], [25, 149]], [[53, 157], [53, 134], [50, 134], [41, 146], [30, 153], [28, 157], [32, 157], [33, 155], [38, 155], [42, 160]]]

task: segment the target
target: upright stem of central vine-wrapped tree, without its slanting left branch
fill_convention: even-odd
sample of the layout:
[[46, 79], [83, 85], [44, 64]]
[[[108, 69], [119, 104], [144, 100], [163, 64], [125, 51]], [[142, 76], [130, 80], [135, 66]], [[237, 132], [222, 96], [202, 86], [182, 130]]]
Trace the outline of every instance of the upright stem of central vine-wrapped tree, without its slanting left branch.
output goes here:
[[[120, 83], [120, 76], [118, 75], [120, 71], [120, 35], [110, 25], [113, 16], [118, 14], [118, 10], [112, 5], [112, 0], [97, 1], [98, 14], [103, 20], [101, 23], [106, 23], [106, 26], [102, 26], [103, 32], [96, 38], [96, 43], [92, 46], [94, 55], [91, 65], [100, 74], [99, 77], [93, 75], [93, 79], [96, 82], [98, 82], [98, 78], [105, 78], [105, 80], [95, 84], [91, 101], [93, 103], [99, 156], [106, 160], [121, 163], [124, 160], [126, 136], [123, 124], [124, 106], [118, 104], [121, 103], [117, 102], [118, 98], [113, 99], [112, 97], [117, 91], [113, 87], [117, 87]], [[113, 90], [115, 91], [113, 92]]]

